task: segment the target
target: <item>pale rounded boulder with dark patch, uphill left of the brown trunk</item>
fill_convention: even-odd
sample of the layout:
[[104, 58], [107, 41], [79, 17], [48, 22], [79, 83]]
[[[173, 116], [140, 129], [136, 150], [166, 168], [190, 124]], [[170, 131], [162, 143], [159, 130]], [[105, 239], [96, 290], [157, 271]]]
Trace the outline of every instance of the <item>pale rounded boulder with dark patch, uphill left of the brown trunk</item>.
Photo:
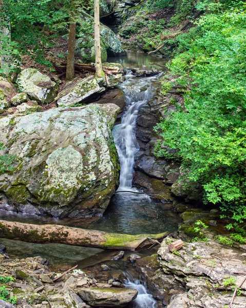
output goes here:
[[22, 92], [27, 93], [31, 100], [45, 104], [54, 100], [59, 88], [49, 76], [34, 68], [24, 69], [18, 75], [17, 85]]

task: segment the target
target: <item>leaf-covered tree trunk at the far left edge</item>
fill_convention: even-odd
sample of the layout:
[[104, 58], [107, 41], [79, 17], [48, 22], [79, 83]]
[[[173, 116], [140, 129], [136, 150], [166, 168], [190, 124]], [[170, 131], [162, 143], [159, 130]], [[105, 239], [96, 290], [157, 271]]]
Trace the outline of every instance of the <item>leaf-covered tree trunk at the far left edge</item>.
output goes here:
[[11, 54], [8, 50], [11, 41], [10, 21], [4, 10], [4, 0], [0, 0], [0, 50], [1, 50], [1, 69], [4, 69], [6, 76], [10, 72]]

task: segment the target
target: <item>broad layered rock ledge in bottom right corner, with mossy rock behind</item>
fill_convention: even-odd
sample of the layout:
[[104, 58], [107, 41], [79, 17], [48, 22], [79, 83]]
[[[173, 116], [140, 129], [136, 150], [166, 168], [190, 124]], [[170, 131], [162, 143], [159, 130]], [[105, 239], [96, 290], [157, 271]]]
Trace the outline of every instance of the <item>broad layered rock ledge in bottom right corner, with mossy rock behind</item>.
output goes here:
[[[221, 223], [215, 210], [202, 210], [184, 203], [175, 204], [182, 213], [184, 224], [173, 237], [161, 243], [157, 255], [136, 261], [153, 296], [168, 308], [222, 308], [229, 307], [233, 292], [245, 277], [244, 245], [222, 245], [215, 236]], [[191, 242], [194, 223], [217, 219], [217, 226], [203, 229], [206, 241]], [[168, 251], [168, 245], [177, 238], [185, 240], [176, 253]], [[190, 242], [187, 242], [190, 241]], [[237, 245], [235, 245], [237, 244]], [[242, 308], [246, 302], [246, 284], [234, 299], [233, 307]]]

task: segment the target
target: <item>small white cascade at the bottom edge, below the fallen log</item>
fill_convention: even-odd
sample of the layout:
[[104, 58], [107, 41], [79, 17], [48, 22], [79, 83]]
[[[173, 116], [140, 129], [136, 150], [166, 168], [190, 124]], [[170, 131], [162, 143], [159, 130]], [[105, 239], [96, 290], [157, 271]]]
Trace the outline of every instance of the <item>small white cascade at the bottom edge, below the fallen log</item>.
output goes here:
[[147, 293], [146, 285], [141, 284], [139, 280], [128, 278], [125, 282], [125, 286], [138, 290], [138, 296], [133, 301], [133, 308], [155, 308], [156, 300], [151, 294]]

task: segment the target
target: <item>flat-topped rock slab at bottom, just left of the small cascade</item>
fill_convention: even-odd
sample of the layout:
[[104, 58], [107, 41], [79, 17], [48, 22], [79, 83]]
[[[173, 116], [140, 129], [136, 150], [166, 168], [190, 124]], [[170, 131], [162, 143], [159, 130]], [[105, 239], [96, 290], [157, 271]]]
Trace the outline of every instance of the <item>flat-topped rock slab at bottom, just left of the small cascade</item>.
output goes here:
[[84, 287], [78, 292], [79, 296], [94, 307], [125, 307], [134, 300], [138, 291], [130, 288], [96, 288]]

